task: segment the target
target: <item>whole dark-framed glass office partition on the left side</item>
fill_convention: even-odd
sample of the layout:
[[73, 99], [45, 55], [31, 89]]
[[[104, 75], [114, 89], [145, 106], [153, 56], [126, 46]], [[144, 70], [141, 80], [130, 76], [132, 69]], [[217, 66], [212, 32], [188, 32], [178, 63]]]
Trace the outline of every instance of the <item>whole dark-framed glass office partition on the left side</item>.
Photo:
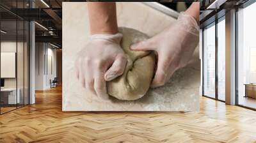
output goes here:
[[[0, 2], [3, 3], [6, 2]], [[14, 8], [28, 8], [26, 3], [12, 1]], [[29, 104], [29, 22], [3, 8], [0, 11], [0, 114], [3, 114]]]

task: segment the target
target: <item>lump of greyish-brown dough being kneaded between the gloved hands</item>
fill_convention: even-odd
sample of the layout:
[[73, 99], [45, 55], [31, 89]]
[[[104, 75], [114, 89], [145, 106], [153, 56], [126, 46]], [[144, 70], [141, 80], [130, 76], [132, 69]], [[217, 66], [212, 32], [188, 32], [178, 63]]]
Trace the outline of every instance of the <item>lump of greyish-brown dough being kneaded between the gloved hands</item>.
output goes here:
[[148, 91], [156, 56], [154, 52], [130, 50], [133, 43], [147, 40], [146, 34], [126, 27], [120, 27], [118, 31], [123, 34], [121, 47], [128, 61], [123, 75], [107, 82], [108, 94], [119, 100], [137, 100]]

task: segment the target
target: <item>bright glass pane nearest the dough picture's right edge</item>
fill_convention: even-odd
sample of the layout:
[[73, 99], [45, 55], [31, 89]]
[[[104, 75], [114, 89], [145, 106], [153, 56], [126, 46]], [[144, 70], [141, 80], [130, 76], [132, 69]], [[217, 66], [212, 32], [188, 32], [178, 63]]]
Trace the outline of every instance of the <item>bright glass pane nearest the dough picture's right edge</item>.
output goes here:
[[204, 29], [204, 95], [215, 98], [215, 24]]

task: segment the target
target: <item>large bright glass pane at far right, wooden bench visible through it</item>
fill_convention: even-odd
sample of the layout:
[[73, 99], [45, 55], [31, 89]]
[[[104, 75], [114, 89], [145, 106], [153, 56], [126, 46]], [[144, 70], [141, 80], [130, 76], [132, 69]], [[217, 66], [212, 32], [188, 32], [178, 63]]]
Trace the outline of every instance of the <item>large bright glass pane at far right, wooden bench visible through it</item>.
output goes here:
[[256, 109], [256, 3], [237, 12], [238, 104]]

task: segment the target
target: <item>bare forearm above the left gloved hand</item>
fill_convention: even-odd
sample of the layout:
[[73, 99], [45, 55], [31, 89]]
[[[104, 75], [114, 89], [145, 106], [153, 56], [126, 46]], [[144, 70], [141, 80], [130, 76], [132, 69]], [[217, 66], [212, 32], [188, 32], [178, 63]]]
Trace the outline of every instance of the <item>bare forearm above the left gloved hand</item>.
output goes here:
[[88, 13], [91, 34], [116, 34], [116, 4], [89, 2]]

